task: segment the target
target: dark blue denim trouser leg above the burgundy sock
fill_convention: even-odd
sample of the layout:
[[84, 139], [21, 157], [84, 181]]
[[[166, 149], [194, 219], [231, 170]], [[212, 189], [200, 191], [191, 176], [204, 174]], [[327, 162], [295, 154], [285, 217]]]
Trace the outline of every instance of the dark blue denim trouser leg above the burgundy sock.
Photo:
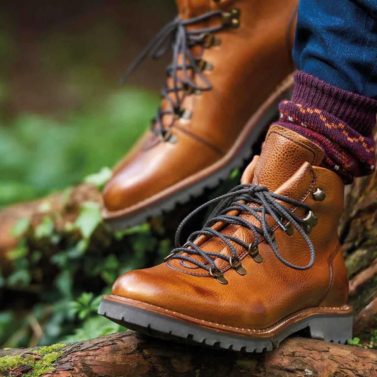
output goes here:
[[377, 0], [300, 0], [296, 66], [377, 99]]

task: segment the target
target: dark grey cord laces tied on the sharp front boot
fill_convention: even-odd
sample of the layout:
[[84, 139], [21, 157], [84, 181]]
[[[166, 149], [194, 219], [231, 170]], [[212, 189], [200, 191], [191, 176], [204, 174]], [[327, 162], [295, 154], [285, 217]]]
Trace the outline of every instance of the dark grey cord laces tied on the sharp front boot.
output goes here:
[[[314, 264], [315, 250], [310, 238], [301, 227], [301, 225], [305, 225], [305, 221], [299, 216], [295, 215], [293, 211], [285, 207], [279, 201], [288, 203], [293, 207], [302, 207], [306, 210], [311, 209], [310, 205], [270, 192], [267, 189], [267, 187], [254, 184], [241, 184], [239, 186], [234, 187], [227, 194], [221, 195], [218, 198], [208, 201], [207, 203], [196, 208], [196, 210], [192, 211], [192, 213], [190, 213], [188, 216], [186, 216], [186, 218], [181, 222], [176, 231], [176, 248], [172, 251], [172, 253], [170, 253], [169, 259], [181, 259], [183, 261], [191, 262], [197, 265], [198, 267], [204, 268], [205, 270], [212, 273], [213, 271], [219, 270], [215, 264], [216, 258], [221, 258], [224, 261], [227, 261], [230, 265], [232, 260], [234, 261], [237, 259], [236, 248], [230, 241], [233, 241], [234, 243], [241, 245], [245, 249], [250, 249], [257, 247], [257, 245], [259, 244], [259, 236], [263, 236], [265, 241], [267, 241], [270, 245], [276, 257], [279, 259], [279, 261], [281, 261], [288, 267], [294, 268], [295, 270], [308, 270]], [[196, 215], [196, 213], [216, 202], [218, 202], [218, 205], [212, 211], [211, 215], [208, 217], [202, 230], [193, 232], [187, 239], [187, 242], [183, 246], [181, 246], [180, 236], [182, 229], [185, 227], [185, 225], [190, 221], [190, 219], [193, 218], [193, 216]], [[257, 206], [250, 206], [246, 203], [254, 203]], [[238, 214], [230, 215], [229, 212], [234, 210], [238, 211]], [[248, 222], [246, 219], [240, 217], [242, 213], [249, 213], [250, 215], [254, 216], [260, 222], [261, 227], [250, 224], [250, 222]], [[310, 262], [306, 266], [297, 266], [291, 264], [279, 254], [279, 252], [277, 251], [277, 247], [274, 243], [273, 231], [271, 230], [271, 227], [268, 225], [267, 222], [267, 215], [272, 216], [273, 219], [276, 221], [276, 224], [283, 231], [287, 231], [287, 228], [283, 224], [284, 220], [286, 219], [301, 234], [303, 239], [308, 244], [310, 251]], [[241, 227], [251, 230], [254, 234], [253, 243], [251, 245], [246, 244], [244, 241], [235, 236], [222, 234], [216, 231], [215, 229], [212, 229], [211, 226], [219, 221], [229, 225], [239, 225]], [[201, 235], [212, 236], [221, 239], [224, 242], [224, 244], [227, 245], [230, 249], [231, 255], [228, 256], [221, 253], [202, 250], [198, 245], [196, 245], [193, 242], [196, 238], [198, 238]], [[201, 256], [204, 263], [200, 261], [201, 258], [194, 259], [191, 257], [192, 255]]]

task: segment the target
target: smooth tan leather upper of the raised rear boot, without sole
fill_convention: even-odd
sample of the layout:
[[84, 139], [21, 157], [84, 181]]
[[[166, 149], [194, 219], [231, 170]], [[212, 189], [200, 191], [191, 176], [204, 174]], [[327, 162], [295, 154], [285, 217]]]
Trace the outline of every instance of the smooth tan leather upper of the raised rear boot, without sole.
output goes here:
[[[190, 120], [164, 115], [164, 127], [176, 136], [175, 144], [163, 142], [148, 131], [116, 165], [104, 189], [105, 218], [111, 218], [112, 213], [116, 217], [117, 212], [206, 169], [230, 150], [251, 115], [294, 70], [290, 55], [297, 2], [176, 1], [181, 18], [239, 8], [240, 27], [217, 32], [220, 46], [195, 47], [196, 57], [213, 64], [213, 70], [205, 71], [213, 89], [200, 95], [181, 93], [182, 107], [192, 112]], [[190, 28], [218, 23], [218, 18], [214, 18]], [[172, 80], [168, 79], [170, 86]], [[167, 100], [163, 100], [161, 108], [168, 106]]]

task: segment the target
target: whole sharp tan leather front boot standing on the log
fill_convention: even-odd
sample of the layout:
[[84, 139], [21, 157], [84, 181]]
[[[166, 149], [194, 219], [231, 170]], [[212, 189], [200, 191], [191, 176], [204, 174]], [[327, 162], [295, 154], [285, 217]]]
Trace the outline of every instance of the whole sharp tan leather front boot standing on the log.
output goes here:
[[215, 199], [205, 227], [164, 264], [119, 277], [99, 313], [148, 334], [250, 352], [304, 328], [351, 339], [337, 236], [344, 187], [322, 159], [308, 139], [271, 127], [261, 156], [241, 185]]

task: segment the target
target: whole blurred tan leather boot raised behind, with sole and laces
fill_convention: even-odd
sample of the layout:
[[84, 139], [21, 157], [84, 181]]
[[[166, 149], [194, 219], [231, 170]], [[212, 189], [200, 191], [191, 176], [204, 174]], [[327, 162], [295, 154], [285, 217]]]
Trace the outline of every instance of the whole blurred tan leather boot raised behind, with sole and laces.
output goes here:
[[103, 216], [112, 228], [200, 195], [250, 158], [251, 146], [291, 88], [297, 2], [177, 0], [179, 17], [126, 74], [148, 54], [161, 55], [175, 38], [152, 129], [104, 189]]

